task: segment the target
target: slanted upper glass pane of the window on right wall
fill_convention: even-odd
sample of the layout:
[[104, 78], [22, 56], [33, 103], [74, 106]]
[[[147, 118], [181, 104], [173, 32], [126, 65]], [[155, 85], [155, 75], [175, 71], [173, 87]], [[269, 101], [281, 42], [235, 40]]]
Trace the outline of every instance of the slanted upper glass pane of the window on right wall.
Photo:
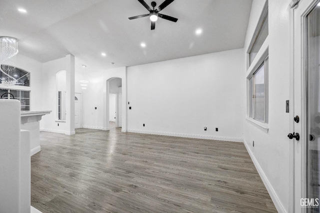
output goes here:
[[258, 53], [259, 49], [261, 48], [265, 38], [269, 34], [269, 28], [268, 28], [268, 14], [266, 14], [265, 19], [262, 22], [262, 26], [260, 30], [258, 31], [257, 37], [255, 41], [252, 44], [252, 48], [249, 52], [249, 64], [252, 63], [253, 59], [255, 58], [256, 54]]

